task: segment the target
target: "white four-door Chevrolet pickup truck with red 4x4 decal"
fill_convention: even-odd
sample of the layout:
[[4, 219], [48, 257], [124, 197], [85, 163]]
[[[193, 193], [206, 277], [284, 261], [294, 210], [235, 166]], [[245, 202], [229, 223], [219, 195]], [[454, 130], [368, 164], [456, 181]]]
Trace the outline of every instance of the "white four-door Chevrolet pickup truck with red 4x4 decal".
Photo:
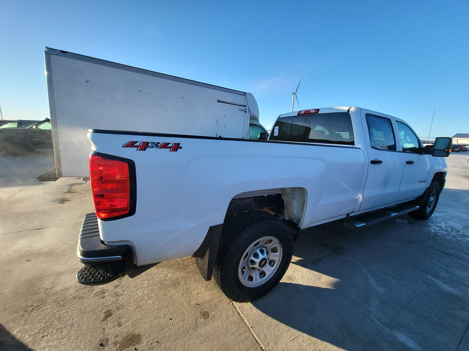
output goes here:
[[232, 300], [269, 292], [300, 229], [428, 219], [451, 138], [424, 147], [406, 122], [359, 107], [280, 115], [268, 140], [91, 129], [96, 213], [78, 242], [82, 284], [194, 256]]

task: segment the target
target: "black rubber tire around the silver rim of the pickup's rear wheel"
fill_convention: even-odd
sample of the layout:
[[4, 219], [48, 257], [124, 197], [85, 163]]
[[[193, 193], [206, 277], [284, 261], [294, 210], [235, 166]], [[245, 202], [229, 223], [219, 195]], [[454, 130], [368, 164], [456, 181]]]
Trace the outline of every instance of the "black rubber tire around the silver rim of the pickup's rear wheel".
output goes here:
[[[242, 255], [253, 242], [265, 236], [272, 236], [280, 241], [282, 256], [279, 266], [262, 285], [247, 287], [238, 277]], [[244, 212], [223, 228], [213, 277], [229, 299], [237, 302], [256, 300], [279, 283], [287, 271], [292, 254], [293, 235], [282, 220], [263, 211]]]

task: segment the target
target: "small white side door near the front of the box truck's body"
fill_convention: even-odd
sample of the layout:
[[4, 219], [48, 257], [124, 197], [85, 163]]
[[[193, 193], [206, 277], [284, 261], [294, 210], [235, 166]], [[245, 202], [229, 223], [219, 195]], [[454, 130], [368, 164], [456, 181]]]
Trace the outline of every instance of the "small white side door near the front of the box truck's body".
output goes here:
[[217, 137], [245, 138], [247, 135], [246, 106], [219, 102]]

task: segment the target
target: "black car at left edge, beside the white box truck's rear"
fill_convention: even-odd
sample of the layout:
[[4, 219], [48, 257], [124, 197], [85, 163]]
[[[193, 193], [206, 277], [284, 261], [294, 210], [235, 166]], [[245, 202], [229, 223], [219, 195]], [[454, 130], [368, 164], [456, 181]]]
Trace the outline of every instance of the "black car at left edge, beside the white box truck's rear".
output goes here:
[[10, 156], [19, 156], [35, 150], [53, 150], [49, 118], [27, 128], [0, 129], [0, 151]]

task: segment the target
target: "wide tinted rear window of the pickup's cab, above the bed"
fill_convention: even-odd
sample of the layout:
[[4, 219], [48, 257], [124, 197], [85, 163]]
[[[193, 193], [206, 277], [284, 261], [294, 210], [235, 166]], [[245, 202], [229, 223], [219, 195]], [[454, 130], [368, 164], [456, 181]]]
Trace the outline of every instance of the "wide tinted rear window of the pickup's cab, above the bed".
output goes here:
[[354, 145], [352, 119], [348, 112], [280, 117], [270, 140]]

